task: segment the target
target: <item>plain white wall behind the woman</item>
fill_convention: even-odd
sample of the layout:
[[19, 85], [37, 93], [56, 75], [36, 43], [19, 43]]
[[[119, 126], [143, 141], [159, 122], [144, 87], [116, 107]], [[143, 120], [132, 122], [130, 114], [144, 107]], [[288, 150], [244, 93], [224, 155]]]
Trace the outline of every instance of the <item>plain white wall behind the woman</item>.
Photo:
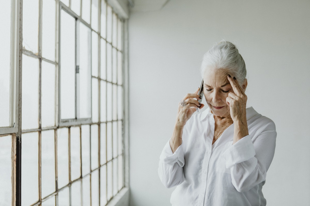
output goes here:
[[248, 71], [248, 105], [271, 118], [277, 146], [268, 205], [310, 204], [310, 1], [170, 0], [129, 19], [132, 206], [170, 205], [157, 174], [179, 100], [200, 84], [203, 54], [234, 42]]

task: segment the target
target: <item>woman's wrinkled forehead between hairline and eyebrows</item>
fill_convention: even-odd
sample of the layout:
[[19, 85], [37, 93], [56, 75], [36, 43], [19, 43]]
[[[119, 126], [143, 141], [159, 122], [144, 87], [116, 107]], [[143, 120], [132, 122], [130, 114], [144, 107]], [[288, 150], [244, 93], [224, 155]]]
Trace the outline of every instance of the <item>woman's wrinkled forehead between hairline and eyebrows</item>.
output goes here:
[[229, 82], [227, 75], [228, 73], [225, 69], [206, 68], [203, 74], [203, 82], [212, 87], [220, 87]]

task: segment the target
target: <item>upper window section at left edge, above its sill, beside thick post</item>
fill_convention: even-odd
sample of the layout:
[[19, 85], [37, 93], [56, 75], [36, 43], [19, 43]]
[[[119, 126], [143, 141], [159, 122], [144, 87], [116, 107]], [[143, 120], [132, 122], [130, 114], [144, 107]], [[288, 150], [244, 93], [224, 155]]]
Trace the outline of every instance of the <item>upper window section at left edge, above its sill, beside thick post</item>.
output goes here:
[[[3, 2], [0, 8], [0, 135], [17, 132], [15, 122], [16, 100], [16, 8], [17, 2]], [[15, 127], [16, 126], [16, 127]]]

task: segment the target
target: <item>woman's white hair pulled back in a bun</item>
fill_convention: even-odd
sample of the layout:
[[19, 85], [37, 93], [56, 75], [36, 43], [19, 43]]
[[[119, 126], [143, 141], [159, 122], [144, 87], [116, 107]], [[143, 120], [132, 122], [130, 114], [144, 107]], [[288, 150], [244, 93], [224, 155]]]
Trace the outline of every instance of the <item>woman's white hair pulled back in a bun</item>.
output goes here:
[[224, 70], [236, 77], [240, 85], [246, 78], [246, 64], [236, 46], [229, 41], [222, 40], [205, 53], [201, 63], [202, 77], [207, 67]]

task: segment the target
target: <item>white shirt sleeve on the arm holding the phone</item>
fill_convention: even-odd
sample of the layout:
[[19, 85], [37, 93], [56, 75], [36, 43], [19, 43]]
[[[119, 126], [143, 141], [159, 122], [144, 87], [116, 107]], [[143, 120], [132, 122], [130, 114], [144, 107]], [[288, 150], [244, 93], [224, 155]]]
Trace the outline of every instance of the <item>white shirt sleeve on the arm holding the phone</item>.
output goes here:
[[172, 153], [170, 142], [168, 141], [160, 155], [158, 167], [159, 178], [165, 187], [174, 187], [184, 181], [184, 164], [183, 141], [174, 153]]

